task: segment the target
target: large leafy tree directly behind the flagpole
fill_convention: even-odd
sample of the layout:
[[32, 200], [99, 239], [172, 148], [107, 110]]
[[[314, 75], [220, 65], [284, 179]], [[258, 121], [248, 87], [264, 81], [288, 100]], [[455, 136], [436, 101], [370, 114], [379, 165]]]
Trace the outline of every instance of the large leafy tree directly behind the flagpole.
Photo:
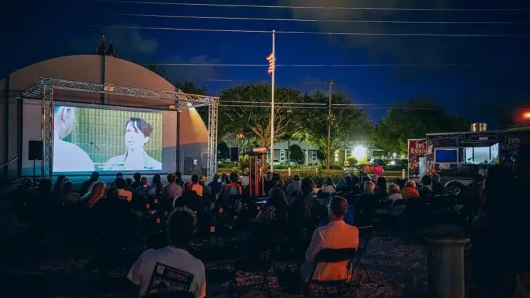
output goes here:
[[[242, 132], [257, 139], [257, 144], [268, 148], [271, 143], [271, 86], [253, 84], [223, 90], [220, 100], [230, 106], [219, 106], [219, 123], [226, 132]], [[284, 139], [293, 127], [293, 110], [282, 103], [300, 102], [297, 90], [275, 90], [275, 141]], [[255, 107], [252, 107], [255, 106]], [[221, 126], [219, 126], [220, 128]]]

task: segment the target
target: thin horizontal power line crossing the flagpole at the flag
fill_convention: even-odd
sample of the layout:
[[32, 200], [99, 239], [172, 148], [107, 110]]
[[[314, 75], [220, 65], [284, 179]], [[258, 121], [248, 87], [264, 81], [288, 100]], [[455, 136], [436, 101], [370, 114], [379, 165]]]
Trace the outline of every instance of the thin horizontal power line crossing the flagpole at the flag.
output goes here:
[[[268, 64], [243, 64], [243, 63], [152, 63], [152, 66], [226, 66], [226, 67], [267, 67]], [[276, 64], [276, 66], [287, 67], [420, 67], [425, 64], [371, 64], [371, 63], [357, 63], [357, 64]], [[471, 66], [471, 64], [449, 63], [443, 66]], [[218, 81], [232, 81], [232, 80], [218, 80]]]

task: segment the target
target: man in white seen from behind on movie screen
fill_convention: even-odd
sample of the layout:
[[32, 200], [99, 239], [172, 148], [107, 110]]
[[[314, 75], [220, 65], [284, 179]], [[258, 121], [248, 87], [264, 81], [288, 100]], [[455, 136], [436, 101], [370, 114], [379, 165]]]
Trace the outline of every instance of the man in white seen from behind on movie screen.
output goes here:
[[53, 122], [53, 172], [92, 172], [94, 162], [79, 146], [63, 141], [74, 129], [76, 109], [56, 106]]

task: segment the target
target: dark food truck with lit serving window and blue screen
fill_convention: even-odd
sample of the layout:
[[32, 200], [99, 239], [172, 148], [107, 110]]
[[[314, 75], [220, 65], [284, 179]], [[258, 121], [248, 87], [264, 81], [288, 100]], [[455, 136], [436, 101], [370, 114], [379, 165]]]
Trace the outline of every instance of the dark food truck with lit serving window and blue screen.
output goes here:
[[[417, 177], [436, 173], [446, 188], [458, 195], [471, 184], [473, 176], [486, 175], [489, 166], [502, 164], [513, 168], [519, 146], [530, 143], [530, 128], [488, 131], [483, 123], [480, 130], [475, 129], [476, 125], [473, 123], [469, 132], [426, 134], [424, 170], [420, 167]], [[409, 150], [409, 163], [410, 160]], [[410, 167], [409, 164], [409, 171]]]

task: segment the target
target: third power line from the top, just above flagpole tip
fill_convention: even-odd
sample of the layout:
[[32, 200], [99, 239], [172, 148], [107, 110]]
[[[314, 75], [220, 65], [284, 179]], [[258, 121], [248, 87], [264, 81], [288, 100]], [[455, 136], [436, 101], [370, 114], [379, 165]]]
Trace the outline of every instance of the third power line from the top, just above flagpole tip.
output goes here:
[[[237, 32], [237, 33], [273, 33], [272, 30], [236, 30], [236, 29], [206, 29], [206, 28], [163, 28], [141, 26], [97, 26], [121, 29], [140, 30], [171, 30], [195, 32]], [[432, 33], [363, 33], [363, 32], [309, 32], [309, 31], [275, 31], [277, 34], [318, 34], [318, 35], [355, 35], [355, 36], [394, 36], [394, 37], [530, 37], [530, 34], [432, 34]]]

